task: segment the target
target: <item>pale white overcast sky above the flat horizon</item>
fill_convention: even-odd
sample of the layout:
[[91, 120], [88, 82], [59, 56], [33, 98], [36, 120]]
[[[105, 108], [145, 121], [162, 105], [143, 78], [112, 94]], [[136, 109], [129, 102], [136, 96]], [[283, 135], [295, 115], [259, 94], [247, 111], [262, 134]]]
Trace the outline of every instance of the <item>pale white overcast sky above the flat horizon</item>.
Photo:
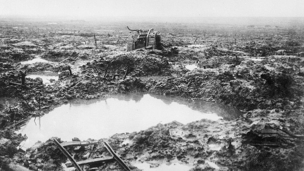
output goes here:
[[1, 16], [304, 17], [303, 0], [0, 0]]

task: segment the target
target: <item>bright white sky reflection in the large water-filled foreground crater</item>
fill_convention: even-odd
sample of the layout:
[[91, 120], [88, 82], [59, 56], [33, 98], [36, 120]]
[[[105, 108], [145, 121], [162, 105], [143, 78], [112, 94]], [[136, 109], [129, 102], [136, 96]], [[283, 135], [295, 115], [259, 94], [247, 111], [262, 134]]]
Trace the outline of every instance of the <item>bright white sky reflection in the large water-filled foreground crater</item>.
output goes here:
[[53, 136], [68, 141], [74, 137], [100, 139], [115, 133], [145, 130], [158, 123], [178, 121], [187, 124], [201, 119], [216, 121], [223, 118], [212, 111], [225, 109], [212, 109], [207, 103], [201, 105], [183, 98], [143, 93], [74, 100], [45, 114], [39, 123], [38, 119], [34, 121], [32, 118], [18, 133], [28, 136], [21, 145], [30, 147], [38, 140], [44, 142]]

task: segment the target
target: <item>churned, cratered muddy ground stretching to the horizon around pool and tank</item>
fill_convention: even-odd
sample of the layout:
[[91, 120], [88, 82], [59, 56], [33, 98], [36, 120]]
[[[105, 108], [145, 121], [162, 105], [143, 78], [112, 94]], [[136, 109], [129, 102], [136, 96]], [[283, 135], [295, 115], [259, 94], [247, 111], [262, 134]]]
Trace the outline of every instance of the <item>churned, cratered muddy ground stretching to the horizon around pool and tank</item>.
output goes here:
[[[126, 52], [125, 27], [131, 24], [161, 31], [164, 48]], [[152, 168], [178, 162], [191, 170], [303, 170], [302, 25], [2, 21], [0, 55], [1, 98], [13, 99], [0, 106], [1, 170], [61, 170], [67, 161], [51, 137], [18, 150], [27, 137], [15, 131], [31, 117], [70, 99], [137, 91], [218, 102], [243, 114], [231, 121], [173, 121], [68, 148], [77, 161], [109, 156], [106, 141], [134, 170], [136, 162]], [[20, 63], [35, 58], [48, 62]], [[186, 69], [188, 64], [198, 68]], [[45, 84], [26, 78], [26, 87], [18, 85], [22, 73], [33, 71], [59, 72], [59, 79]], [[142, 81], [142, 76], [164, 78]], [[83, 166], [90, 168], [122, 169], [116, 162]]]

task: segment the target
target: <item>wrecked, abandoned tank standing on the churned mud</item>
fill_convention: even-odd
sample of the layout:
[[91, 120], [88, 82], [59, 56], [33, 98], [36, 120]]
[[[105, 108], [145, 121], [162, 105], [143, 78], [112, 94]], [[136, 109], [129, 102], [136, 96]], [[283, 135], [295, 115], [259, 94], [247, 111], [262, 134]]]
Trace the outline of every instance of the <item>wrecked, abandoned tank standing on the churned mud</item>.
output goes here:
[[161, 44], [161, 33], [159, 31], [155, 32], [153, 28], [149, 30], [131, 30], [128, 26], [127, 28], [131, 32], [136, 32], [134, 35], [132, 35], [133, 40], [130, 40], [128, 43], [127, 51], [132, 51], [140, 48], [159, 50], [163, 48]]

